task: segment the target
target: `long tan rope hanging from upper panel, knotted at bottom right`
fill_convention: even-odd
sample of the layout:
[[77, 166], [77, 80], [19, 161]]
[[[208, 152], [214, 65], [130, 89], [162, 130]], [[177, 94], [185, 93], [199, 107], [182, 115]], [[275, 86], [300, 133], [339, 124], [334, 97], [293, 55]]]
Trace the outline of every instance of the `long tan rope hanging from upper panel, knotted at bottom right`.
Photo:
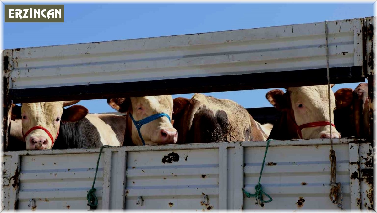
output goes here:
[[329, 197], [333, 203], [337, 203], [340, 209], [343, 209], [343, 193], [341, 183], [336, 182], [336, 156], [335, 150], [333, 149], [333, 134], [331, 128], [331, 106], [330, 106], [330, 71], [329, 71], [329, 46], [328, 46], [328, 24], [325, 21], [325, 32], [326, 32], [326, 65], [327, 65], [327, 91], [328, 91], [328, 106], [329, 106], [329, 120], [330, 120], [330, 193]]

